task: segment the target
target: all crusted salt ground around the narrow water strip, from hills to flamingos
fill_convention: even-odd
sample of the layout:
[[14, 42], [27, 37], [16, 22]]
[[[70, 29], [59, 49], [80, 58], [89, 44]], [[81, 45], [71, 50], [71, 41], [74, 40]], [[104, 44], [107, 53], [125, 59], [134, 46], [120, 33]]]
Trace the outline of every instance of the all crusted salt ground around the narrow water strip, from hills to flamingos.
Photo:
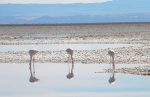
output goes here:
[[[64, 35], [64, 38], [17, 38], [24, 35]], [[143, 44], [115, 48], [116, 64], [149, 64], [150, 23], [102, 23], [64, 25], [0, 25], [0, 45], [29, 44]], [[108, 49], [74, 51], [74, 61], [79, 63], [109, 63]], [[41, 51], [36, 62], [66, 62], [65, 51]], [[0, 52], [1, 63], [29, 62], [25, 51]]]

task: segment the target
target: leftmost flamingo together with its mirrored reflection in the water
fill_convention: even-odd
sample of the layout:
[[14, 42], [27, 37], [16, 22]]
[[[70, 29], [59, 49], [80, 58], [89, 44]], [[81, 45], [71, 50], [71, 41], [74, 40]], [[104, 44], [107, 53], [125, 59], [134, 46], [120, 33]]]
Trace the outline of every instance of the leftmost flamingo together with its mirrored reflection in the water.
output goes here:
[[[39, 51], [36, 49], [29, 50], [29, 55], [30, 55], [30, 62], [29, 62], [30, 79], [29, 79], [29, 81], [31, 83], [35, 83], [35, 82], [39, 81], [39, 79], [35, 77], [35, 66], [34, 66], [34, 62], [35, 62], [34, 56], [38, 52]], [[32, 62], [33, 62], [33, 65], [32, 65]], [[33, 67], [33, 69], [32, 69], [32, 67]]]

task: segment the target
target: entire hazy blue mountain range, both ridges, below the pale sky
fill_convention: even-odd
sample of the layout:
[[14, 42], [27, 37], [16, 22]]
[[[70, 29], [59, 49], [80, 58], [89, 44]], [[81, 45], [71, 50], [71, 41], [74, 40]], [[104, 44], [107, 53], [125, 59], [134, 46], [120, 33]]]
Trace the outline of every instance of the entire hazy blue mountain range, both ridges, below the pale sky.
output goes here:
[[0, 4], [0, 24], [150, 22], [150, 0], [105, 3]]

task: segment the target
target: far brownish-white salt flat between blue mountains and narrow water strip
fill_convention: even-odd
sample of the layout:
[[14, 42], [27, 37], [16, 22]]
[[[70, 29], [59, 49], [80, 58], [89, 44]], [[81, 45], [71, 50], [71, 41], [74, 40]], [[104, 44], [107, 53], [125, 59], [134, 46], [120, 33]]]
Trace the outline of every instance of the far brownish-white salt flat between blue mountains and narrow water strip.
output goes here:
[[[25, 35], [66, 35], [64, 38], [24, 38]], [[20, 37], [20, 38], [18, 38]], [[69, 41], [68, 41], [69, 40]], [[0, 45], [122, 43], [149, 44], [150, 23], [0, 25]]]

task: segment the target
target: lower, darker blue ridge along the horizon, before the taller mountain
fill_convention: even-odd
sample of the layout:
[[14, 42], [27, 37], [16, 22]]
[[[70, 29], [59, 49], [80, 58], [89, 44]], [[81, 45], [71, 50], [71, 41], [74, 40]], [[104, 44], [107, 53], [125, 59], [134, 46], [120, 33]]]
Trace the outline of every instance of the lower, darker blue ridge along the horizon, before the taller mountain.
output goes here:
[[150, 22], [150, 13], [75, 15], [75, 16], [0, 16], [0, 24], [58, 24], [101, 22]]

